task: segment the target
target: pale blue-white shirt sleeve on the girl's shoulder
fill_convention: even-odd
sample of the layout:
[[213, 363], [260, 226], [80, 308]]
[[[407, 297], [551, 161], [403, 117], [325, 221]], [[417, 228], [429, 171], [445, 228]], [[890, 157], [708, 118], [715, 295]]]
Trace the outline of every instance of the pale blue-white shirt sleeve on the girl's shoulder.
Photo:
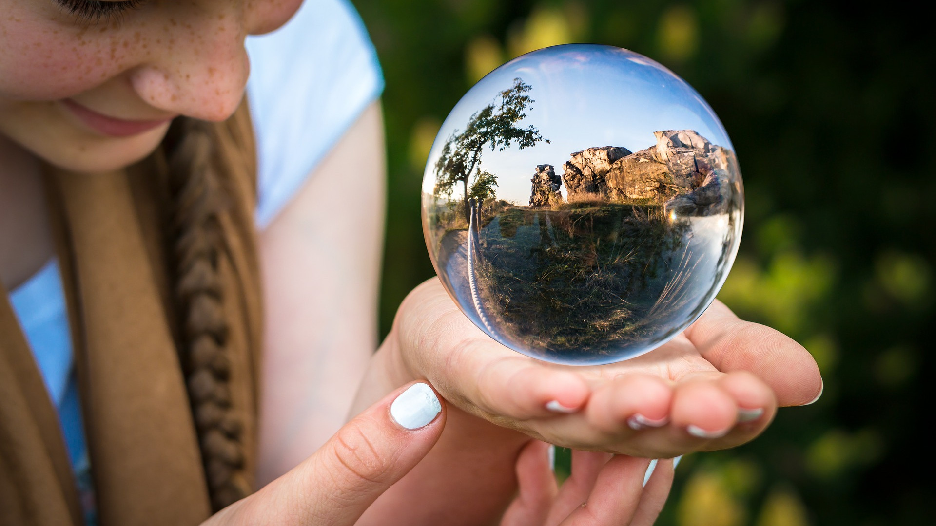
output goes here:
[[384, 89], [367, 30], [347, 0], [306, 0], [278, 30], [248, 37], [257, 154], [256, 225], [268, 226]]

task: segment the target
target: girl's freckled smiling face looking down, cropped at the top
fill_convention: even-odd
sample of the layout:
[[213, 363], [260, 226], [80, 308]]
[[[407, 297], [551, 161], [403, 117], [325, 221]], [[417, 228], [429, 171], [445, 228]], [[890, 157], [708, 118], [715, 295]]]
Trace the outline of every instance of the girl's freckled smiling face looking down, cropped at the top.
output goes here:
[[248, 34], [301, 0], [0, 0], [0, 134], [52, 165], [124, 168], [169, 121], [237, 109]]

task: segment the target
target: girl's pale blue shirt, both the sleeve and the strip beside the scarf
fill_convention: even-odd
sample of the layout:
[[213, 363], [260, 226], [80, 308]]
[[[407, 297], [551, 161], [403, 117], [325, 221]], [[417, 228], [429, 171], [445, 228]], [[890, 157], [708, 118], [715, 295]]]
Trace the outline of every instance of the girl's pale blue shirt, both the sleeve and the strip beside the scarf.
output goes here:
[[[257, 152], [258, 228], [269, 225], [384, 80], [373, 44], [347, 0], [306, 0], [280, 29], [247, 37], [247, 96]], [[88, 458], [68, 331], [65, 293], [52, 260], [10, 293], [59, 412], [82, 485]]]

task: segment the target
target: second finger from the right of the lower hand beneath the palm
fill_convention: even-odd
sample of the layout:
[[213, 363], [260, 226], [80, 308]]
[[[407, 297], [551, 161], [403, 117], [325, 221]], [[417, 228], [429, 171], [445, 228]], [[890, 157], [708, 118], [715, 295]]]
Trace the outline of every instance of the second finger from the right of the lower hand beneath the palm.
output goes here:
[[649, 465], [648, 459], [626, 455], [608, 460], [588, 501], [579, 505], [561, 526], [630, 524], [643, 493], [643, 477]]

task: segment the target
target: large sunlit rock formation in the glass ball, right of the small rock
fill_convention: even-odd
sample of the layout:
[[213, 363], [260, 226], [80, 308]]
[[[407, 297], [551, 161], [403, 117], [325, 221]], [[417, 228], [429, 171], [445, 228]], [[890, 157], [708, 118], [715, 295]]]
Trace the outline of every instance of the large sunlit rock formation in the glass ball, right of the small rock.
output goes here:
[[649, 199], [679, 215], [724, 212], [731, 196], [728, 151], [693, 130], [653, 135], [656, 145], [636, 153], [611, 146], [572, 153], [563, 165], [569, 200]]

